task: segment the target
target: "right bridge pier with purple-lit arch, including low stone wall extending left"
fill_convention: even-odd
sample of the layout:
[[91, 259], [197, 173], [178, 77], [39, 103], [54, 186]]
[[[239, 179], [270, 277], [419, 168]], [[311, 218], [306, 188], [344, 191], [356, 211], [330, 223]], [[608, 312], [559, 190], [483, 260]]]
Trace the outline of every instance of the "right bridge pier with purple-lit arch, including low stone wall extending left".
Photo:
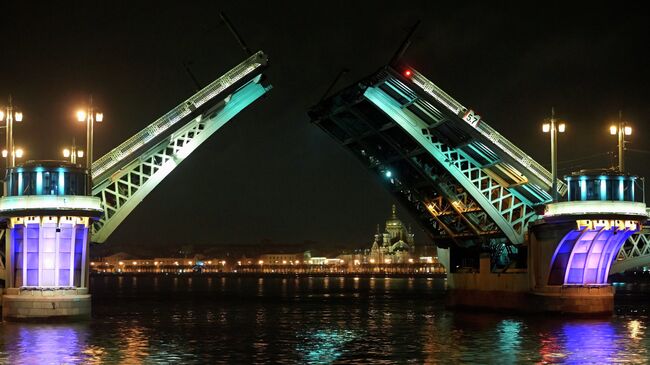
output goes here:
[[528, 312], [609, 314], [614, 309], [610, 268], [623, 244], [648, 219], [637, 178], [611, 171], [566, 177], [567, 201], [551, 203], [529, 227], [528, 270], [481, 270], [449, 275], [452, 306]]

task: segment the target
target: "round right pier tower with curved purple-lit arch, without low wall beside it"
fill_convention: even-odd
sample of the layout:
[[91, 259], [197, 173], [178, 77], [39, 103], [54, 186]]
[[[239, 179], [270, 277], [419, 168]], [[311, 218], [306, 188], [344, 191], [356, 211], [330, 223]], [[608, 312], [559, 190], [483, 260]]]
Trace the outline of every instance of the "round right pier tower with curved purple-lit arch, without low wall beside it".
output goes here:
[[[611, 313], [609, 271], [648, 219], [636, 176], [582, 171], [566, 177], [567, 201], [548, 204], [530, 227], [529, 286], [535, 302], [566, 313]], [[550, 264], [549, 264], [550, 263]]]

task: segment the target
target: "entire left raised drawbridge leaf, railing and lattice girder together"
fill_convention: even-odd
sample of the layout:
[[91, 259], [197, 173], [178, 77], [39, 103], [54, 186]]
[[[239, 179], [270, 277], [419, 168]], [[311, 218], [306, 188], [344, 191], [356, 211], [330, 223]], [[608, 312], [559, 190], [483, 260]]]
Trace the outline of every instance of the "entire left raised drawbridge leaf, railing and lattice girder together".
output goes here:
[[135, 207], [201, 143], [271, 89], [268, 57], [257, 52], [93, 163], [93, 195], [103, 216], [92, 240], [104, 242]]

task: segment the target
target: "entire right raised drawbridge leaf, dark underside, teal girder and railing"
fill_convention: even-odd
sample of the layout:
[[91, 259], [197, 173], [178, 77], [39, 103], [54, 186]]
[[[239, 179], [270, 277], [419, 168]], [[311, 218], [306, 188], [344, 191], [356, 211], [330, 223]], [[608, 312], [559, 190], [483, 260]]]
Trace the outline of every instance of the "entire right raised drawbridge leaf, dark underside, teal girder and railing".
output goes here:
[[[344, 89], [315, 106], [312, 121], [379, 173], [438, 244], [523, 243], [551, 200], [551, 174], [404, 70], [386, 67]], [[558, 191], [566, 192], [561, 181]]]

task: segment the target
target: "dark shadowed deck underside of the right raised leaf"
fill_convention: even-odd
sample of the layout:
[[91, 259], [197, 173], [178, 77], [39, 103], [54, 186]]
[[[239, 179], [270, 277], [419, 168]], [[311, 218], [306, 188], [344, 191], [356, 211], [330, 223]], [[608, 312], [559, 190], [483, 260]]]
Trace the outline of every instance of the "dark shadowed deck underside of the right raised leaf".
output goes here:
[[370, 101], [361, 97], [342, 102], [316, 123], [378, 173], [438, 245], [504, 238], [449, 172]]

